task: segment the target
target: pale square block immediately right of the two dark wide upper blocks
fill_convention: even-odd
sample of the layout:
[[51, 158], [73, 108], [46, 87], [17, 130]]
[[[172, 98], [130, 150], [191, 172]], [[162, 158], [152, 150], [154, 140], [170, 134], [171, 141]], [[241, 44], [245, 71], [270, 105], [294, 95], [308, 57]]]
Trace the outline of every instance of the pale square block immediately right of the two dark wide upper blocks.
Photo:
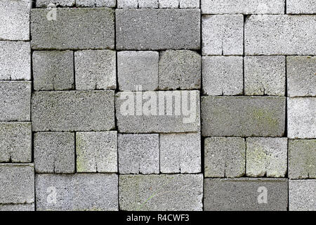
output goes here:
[[202, 55], [242, 55], [244, 17], [242, 15], [202, 16]]

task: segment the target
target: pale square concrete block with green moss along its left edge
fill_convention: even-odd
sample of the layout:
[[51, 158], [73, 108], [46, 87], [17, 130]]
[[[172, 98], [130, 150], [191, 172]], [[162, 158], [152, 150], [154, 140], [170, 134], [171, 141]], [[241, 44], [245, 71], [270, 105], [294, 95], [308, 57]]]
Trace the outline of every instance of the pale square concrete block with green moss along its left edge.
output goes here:
[[76, 133], [77, 172], [117, 172], [117, 131]]

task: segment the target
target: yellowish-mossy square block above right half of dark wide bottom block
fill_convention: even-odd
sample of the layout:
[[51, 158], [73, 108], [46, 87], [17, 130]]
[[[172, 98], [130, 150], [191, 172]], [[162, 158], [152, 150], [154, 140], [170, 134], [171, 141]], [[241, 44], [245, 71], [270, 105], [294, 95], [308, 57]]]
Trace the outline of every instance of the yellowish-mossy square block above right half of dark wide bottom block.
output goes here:
[[247, 138], [246, 176], [285, 177], [287, 138]]

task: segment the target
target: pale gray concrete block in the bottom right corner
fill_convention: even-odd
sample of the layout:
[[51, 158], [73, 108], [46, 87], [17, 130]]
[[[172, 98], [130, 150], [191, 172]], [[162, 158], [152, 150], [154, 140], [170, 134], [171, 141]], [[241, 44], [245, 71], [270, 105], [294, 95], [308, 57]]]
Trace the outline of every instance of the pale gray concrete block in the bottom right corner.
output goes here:
[[316, 180], [289, 180], [289, 210], [316, 211]]

